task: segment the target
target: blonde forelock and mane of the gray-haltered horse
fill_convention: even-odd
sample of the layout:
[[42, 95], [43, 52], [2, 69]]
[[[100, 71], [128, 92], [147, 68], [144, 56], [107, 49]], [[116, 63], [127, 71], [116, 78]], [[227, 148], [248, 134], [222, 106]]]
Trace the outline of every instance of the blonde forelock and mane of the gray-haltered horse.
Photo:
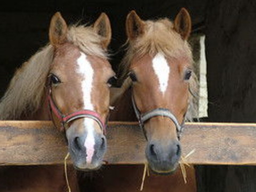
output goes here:
[[[154, 56], [156, 53], [162, 53], [170, 58], [186, 58], [188, 62], [193, 63], [190, 46], [173, 29], [172, 21], [165, 18], [143, 22], [145, 23], [144, 33], [133, 41], [128, 40], [126, 42], [126, 54], [119, 67], [121, 83], [126, 79], [127, 73], [129, 73], [134, 55], [142, 57], [145, 54]], [[189, 108], [186, 119], [187, 121], [193, 121], [193, 118], [198, 116], [198, 83], [194, 73], [189, 81], [189, 89]]]

